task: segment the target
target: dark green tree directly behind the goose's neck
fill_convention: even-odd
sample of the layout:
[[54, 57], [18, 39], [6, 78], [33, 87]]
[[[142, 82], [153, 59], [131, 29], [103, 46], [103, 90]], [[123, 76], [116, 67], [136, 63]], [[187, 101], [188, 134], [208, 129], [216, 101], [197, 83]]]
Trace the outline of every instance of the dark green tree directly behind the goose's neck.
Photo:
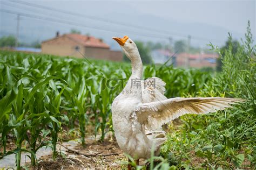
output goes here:
[[[145, 46], [141, 41], [135, 41], [137, 48], [139, 50], [140, 57], [142, 58], [142, 62], [144, 64], [151, 63], [151, 55], [150, 55], [150, 48]], [[130, 61], [127, 56], [124, 54], [124, 61]]]

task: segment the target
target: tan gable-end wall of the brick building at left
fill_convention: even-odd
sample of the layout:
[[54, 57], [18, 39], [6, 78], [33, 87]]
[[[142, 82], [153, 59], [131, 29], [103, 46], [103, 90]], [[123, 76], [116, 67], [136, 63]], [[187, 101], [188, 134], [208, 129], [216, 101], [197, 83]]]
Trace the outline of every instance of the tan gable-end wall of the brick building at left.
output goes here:
[[83, 56], [76, 51], [76, 47], [79, 47], [79, 51], [82, 54], [85, 53], [83, 46], [79, 45], [76, 41], [73, 41], [68, 37], [62, 36], [57, 39], [42, 42], [42, 53], [83, 58]]

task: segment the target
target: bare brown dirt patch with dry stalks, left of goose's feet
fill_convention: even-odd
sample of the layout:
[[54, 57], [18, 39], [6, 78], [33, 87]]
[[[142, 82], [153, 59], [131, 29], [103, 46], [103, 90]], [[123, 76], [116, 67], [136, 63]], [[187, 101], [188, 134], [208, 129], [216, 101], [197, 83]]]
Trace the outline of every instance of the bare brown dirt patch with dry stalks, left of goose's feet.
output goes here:
[[126, 167], [124, 162], [127, 158], [114, 140], [103, 143], [86, 140], [85, 147], [78, 145], [74, 150], [92, 156], [68, 150], [68, 154], [59, 155], [56, 161], [52, 160], [51, 155], [42, 157], [38, 160], [38, 165], [30, 169], [120, 169]]

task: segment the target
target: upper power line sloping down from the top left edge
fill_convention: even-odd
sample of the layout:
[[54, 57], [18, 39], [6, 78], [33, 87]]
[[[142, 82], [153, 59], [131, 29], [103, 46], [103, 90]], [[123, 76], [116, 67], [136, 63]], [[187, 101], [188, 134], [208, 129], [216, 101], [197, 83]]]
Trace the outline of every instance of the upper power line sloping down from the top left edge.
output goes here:
[[[180, 34], [180, 33], [171, 33], [169, 31], [166, 31], [166, 30], [158, 30], [158, 29], [152, 29], [152, 28], [149, 28], [149, 27], [146, 27], [146, 26], [138, 26], [138, 25], [132, 25], [132, 24], [127, 24], [127, 23], [124, 23], [124, 22], [119, 22], [119, 21], [113, 21], [113, 20], [109, 20], [109, 19], [105, 19], [105, 18], [100, 18], [100, 17], [94, 17], [94, 16], [89, 16], [89, 15], [84, 15], [82, 13], [77, 13], [77, 12], [71, 12], [71, 11], [66, 11], [66, 10], [62, 10], [62, 9], [56, 9], [56, 8], [51, 8], [51, 7], [48, 7], [48, 6], [44, 6], [44, 5], [38, 5], [38, 4], [33, 4], [33, 3], [29, 3], [29, 2], [23, 2], [23, 1], [13, 1], [13, 0], [10, 0], [10, 2], [13, 2], [13, 3], [19, 3], [19, 4], [23, 4], [23, 5], [28, 5], [28, 6], [32, 6], [32, 7], [35, 7], [35, 8], [41, 8], [41, 9], [45, 9], [45, 10], [50, 10], [50, 11], [55, 11], [55, 12], [60, 12], [60, 13], [65, 13], [65, 15], [72, 15], [72, 16], [77, 16], [77, 17], [83, 17], [83, 18], [89, 18], [89, 19], [92, 19], [92, 20], [98, 20], [100, 22], [105, 22], [105, 23], [111, 23], [111, 24], [115, 24], [115, 25], [122, 25], [122, 26], [129, 26], [129, 27], [134, 27], [136, 29], [142, 29], [142, 30], [146, 30], [146, 31], [151, 31], [151, 32], [156, 32], [156, 33], [160, 33], [160, 34], [165, 34], [165, 35], [168, 35], [168, 37], [170, 35], [174, 35], [174, 36], [178, 36], [178, 37], [184, 37], [184, 38], [187, 38], [187, 35], [184, 35], [184, 34]], [[205, 38], [201, 38], [201, 37], [194, 37], [192, 36], [193, 39], [196, 39], [196, 40], [203, 40], [203, 41], [209, 41], [208, 39], [205, 39]], [[222, 42], [221, 40], [214, 40], [214, 39], [211, 39], [213, 41], [217, 41], [217, 42]]]

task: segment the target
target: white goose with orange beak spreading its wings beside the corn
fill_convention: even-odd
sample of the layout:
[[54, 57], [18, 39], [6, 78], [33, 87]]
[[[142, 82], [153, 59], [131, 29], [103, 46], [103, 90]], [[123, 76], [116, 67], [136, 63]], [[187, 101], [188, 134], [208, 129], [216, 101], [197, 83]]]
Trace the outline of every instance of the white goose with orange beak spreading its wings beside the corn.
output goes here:
[[[158, 155], [166, 140], [161, 125], [185, 114], [207, 114], [230, 108], [230, 104], [243, 102], [239, 98], [193, 97], [169, 98], [164, 96], [165, 82], [158, 77], [142, 79], [143, 65], [136, 44], [127, 36], [113, 37], [131, 60], [132, 74], [112, 103], [114, 133], [119, 147], [133, 157], [150, 158], [151, 147]], [[144, 86], [153, 83], [154, 86]], [[151, 131], [151, 132], [149, 132]], [[131, 166], [128, 165], [131, 169]]]

